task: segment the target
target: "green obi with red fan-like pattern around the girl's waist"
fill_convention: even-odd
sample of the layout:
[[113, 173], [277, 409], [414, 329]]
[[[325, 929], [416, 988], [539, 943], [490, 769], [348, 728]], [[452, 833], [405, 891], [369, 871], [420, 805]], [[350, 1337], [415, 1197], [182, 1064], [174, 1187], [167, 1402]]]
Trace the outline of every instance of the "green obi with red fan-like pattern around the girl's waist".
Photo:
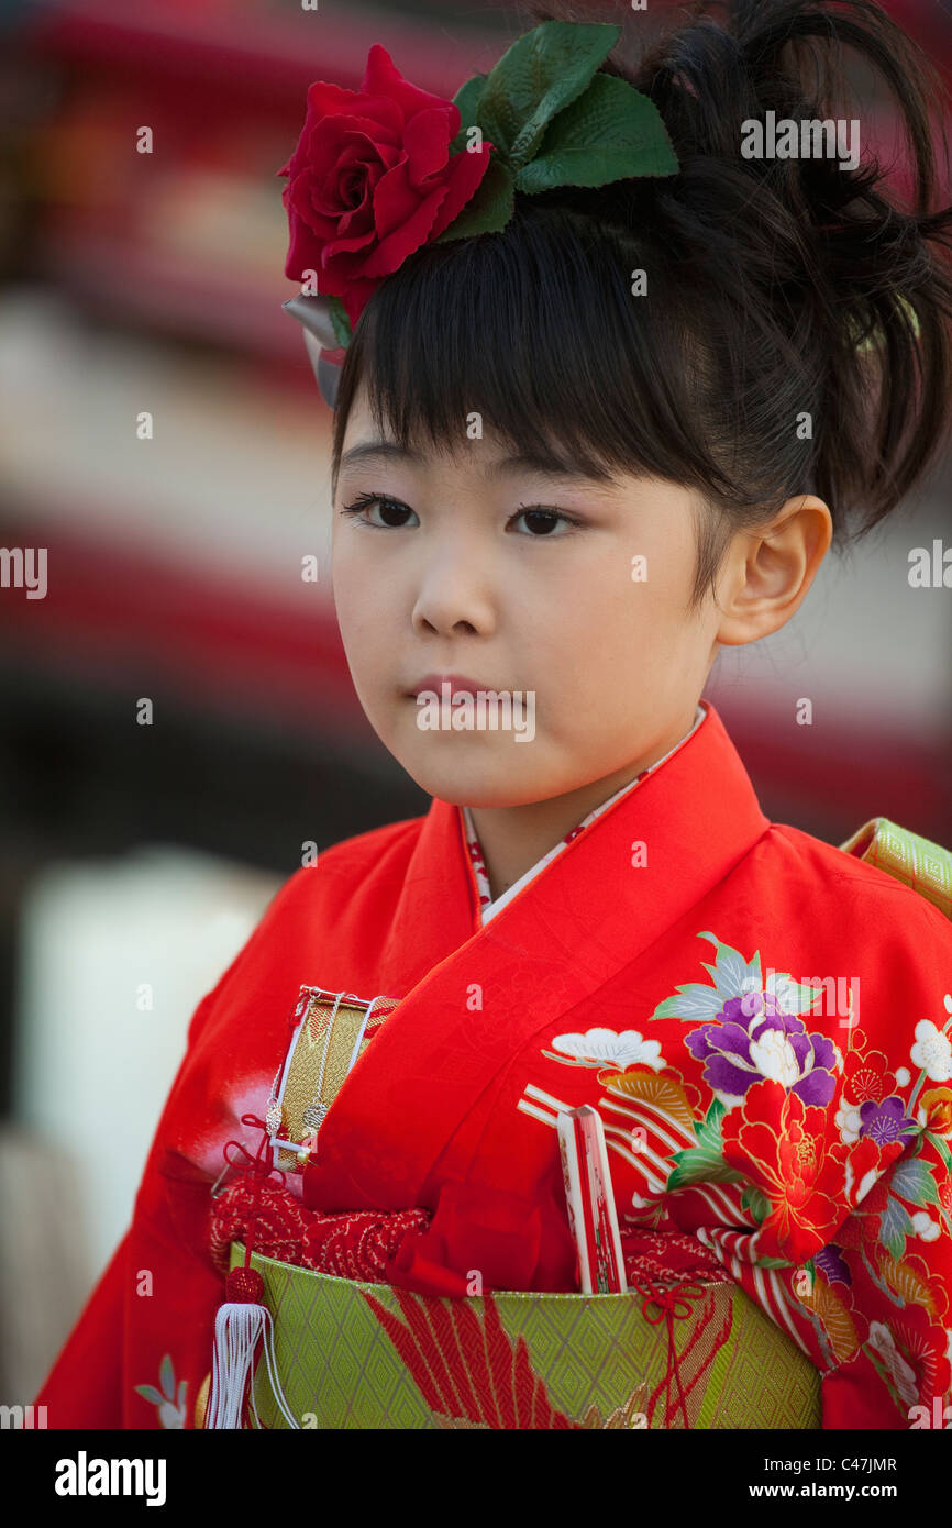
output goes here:
[[[232, 1242], [231, 1267], [243, 1261]], [[698, 1280], [666, 1317], [637, 1293], [449, 1299], [258, 1253], [251, 1265], [301, 1427], [675, 1429], [682, 1397], [692, 1429], [821, 1427], [818, 1371], [735, 1284]], [[263, 1358], [254, 1397], [264, 1427], [287, 1427]]]

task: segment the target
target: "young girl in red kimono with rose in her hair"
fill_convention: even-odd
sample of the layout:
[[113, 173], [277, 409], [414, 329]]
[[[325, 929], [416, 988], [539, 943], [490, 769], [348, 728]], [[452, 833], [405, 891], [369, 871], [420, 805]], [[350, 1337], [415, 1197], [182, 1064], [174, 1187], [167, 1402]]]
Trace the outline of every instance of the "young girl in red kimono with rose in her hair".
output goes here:
[[[50, 1427], [238, 1426], [261, 1332], [270, 1426], [952, 1416], [949, 860], [770, 822], [700, 700], [943, 442], [928, 64], [866, 0], [617, 37], [547, 14], [455, 105], [379, 44], [309, 92], [336, 608], [432, 804], [292, 876], [199, 1005]], [[578, 1293], [582, 1105], [627, 1294]]]

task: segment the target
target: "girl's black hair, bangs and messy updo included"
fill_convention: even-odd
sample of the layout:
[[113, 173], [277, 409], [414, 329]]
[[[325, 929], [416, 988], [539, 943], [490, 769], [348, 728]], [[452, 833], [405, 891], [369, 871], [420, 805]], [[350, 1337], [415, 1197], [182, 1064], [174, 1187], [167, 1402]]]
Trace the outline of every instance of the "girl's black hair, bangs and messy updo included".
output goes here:
[[[712, 9], [602, 66], [651, 96], [678, 174], [516, 193], [501, 232], [425, 244], [380, 283], [341, 374], [335, 484], [361, 382], [402, 445], [452, 445], [478, 411], [520, 452], [700, 490], [694, 610], [732, 535], [788, 498], [822, 498], [842, 549], [920, 483], [952, 408], [940, 79], [873, 0], [732, 0], [723, 24]], [[591, 20], [558, 0], [532, 15]], [[741, 156], [741, 124], [767, 110], [856, 116], [845, 50], [899, 104], [911, 206], [869, 157]]]

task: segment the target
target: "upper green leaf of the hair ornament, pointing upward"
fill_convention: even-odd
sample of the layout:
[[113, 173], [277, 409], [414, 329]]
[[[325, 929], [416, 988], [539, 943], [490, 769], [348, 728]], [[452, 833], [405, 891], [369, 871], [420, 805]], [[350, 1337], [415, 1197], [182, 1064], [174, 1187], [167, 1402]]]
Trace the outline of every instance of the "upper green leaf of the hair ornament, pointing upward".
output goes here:
[[532, 159], [555, 113], [582, 95], [620, 31], [604, 21], [542, 21], [503, 53], [486, 79], [478, 122], [513, 170]]

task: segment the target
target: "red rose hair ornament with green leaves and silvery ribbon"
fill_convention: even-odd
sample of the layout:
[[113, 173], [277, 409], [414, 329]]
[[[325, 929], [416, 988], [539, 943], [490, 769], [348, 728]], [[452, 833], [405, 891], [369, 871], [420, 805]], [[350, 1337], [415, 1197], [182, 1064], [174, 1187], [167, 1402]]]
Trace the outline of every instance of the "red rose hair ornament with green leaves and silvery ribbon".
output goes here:
[[310, 86], [298, 145], [278, 171], [284, 274], [301, 283], [283, 306], [304, 325], [330, 406], [333, 362], [380, 281], [414, 251], [500, 232], [516, 193], [677, 174], [654, 102], [597, 72], [619, 35], [607, 23], [542, 21], [452, 101], [403, 79], [379, 43], [359, 90]]

